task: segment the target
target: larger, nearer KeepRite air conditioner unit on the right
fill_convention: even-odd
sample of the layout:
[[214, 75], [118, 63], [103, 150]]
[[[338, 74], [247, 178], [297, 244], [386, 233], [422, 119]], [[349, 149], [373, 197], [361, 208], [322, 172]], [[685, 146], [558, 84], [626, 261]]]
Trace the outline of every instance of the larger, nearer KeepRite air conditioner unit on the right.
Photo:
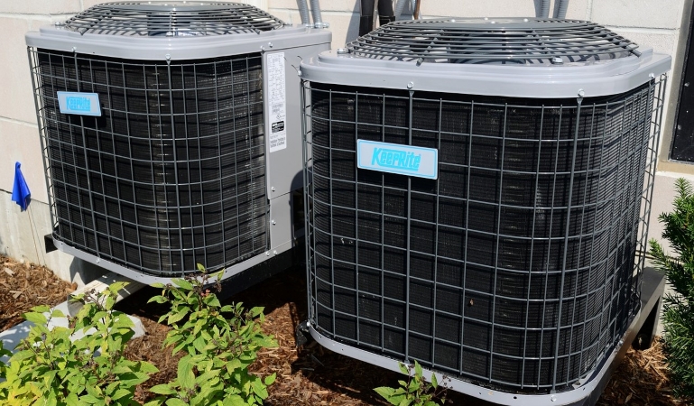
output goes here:
[[389, 23], [302, 62], [311, 336], [487, 401], [588, 396], [640, 311], [670, 65], [552, 19]]

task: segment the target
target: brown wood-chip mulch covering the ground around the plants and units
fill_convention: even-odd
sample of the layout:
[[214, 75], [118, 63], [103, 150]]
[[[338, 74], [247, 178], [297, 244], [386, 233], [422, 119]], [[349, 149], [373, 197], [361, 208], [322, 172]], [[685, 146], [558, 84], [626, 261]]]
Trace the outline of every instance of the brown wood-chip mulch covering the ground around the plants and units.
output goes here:
[[[33, 306], [60, 303], [71, 289], [69, 283], [58, 280], [45, 267], [17, 263], [0, 255], [0, 330], [21, 322], [21, 314]], [[160, 373], [154, 374], [138, 388], [135, 393], [138, 401], [152, 398], [147, 388], [175, 378], [180, 356], [171, 356], [170, 351], [162, 350], [162, 340], [168, 328], [157, 324], [156, 320], [166, 309], [155, 304], [145, 305], [156, 294], [159, 291], [145, 288], [118, 305], [119, 309], [140, 316], [147, 330], [144, 337], [135, 338], [130, 343], [126, 356], [147, 360], [160, 369]], [[277, 374], [277, 381], [269, 388], [268, 405], [384, 405], [387, 403], [373, 389], [395, 386], [397, 380], [402, 379], [402, 375], [338, 355], [316, 343], [300, 349], [294, 346], [294, 328], [306, 318], [306, 285], [302, 269], [281, 272], [226, 301], [243, 301], [246, 308], [264, 307], [264, 330], [279, 342], [279, 347], [262, 351], [253, 365], [256, 374]], [[475, 404], [455, 392], [449, 392], [449, 398], [456, 405]], [[645, 351], [630, 349], [597, 402], [599, 406], [622, 404], [686, 404], [671, 396], [659, 342]]]

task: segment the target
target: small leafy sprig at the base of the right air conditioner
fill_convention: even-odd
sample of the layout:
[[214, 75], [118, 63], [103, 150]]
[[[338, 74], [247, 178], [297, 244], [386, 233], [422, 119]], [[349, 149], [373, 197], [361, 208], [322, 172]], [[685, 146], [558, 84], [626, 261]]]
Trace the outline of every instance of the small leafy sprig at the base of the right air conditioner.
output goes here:
[[408, 375], [407, 381], [398, 381], [400, 387], [382, 386], [374, 391], [397, 406], [438, 406], [446, 403], [445, 385], [438, 383], [435, 374], [431, 374], [431, 380], [427, 382], [420, 363], [414, 361], [413, 365], [400, 364], [400, 371]]

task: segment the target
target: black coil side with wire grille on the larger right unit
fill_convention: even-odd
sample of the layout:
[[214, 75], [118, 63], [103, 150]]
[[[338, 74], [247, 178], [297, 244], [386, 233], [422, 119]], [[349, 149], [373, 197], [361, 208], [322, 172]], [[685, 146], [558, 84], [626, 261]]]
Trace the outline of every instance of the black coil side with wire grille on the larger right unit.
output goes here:
[[[664, 78], [535, 100], [305, 82], [310, 319], [508, 391], [569, 389], [640, 306]], [[439, 179], [356, 167], [436, 148]]]

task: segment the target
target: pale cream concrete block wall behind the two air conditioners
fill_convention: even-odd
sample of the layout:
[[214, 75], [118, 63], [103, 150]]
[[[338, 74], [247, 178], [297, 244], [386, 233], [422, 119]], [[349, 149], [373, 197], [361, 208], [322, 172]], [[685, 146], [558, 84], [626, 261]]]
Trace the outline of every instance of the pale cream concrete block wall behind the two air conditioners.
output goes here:
[[[162, 0], [163, 1], [163, 0]], [[239, 0], [236, 0], [239, 1]], [[241, 0], [244, 1], [244, 0]], [[274, 14], [287, 23], [300, 23], [297, 0], [245, 0]], [[568, 17], [606, 24], [615, 32], [655, 51], [674, 57], [674, 72], [681, 70], [681, 55], [686, 42], [682, 15], [689, 21], [692, 0], [570, 0]], [[5, 0], [0, 2], [0, 253], [18, 259], [43, 263], [61, 278], [78, 283], [93, 279], [100, 269], [70, 255], [46, 254], [43, 235], [51, 231], [48, 197], [44, 180], [41, 148], [36, 125], [32, 83], [24, 44], [24, 33], [44, 24], [64, 21], [101, 0]], [[321, 0], [323, 20], [330, 23], [333, 48], [356, 39], [359, 0]], [[422, 0], [424, 17], [504, 17], [533, 16], [541, 0]], [[557, 6], [552, 0], [551, 14]], [[408, 13], [408, 10], [405, 10]], [[687, 25], [685, 24], [685, 30]], [[678, 65], [679, 64], [679, 65]], [[677, 74], [671, 75], [671, 90], [677, 88]], [[671, 91], [670, 94], [673, 94]], [[675, 93], [676, 94], [676, 93]], [[676, 97], [675, 97], [676, 98]], [[670, 101], [673, 97], [670, 97]], [[665, 123], [664, 132], [669, 132]], [[664, 146], [667, 149], [668, 145]], [[30, 209], [21, 212], [10, 200], [14, 181], [14, 162], [22, 162], [23, 173], [32, 189]], [[667, 162], [666, 162], [667, 163]], [[663, 163], [664, 165], [664, 163]], [[659, 172], [653, 216], [670, 208], [672, 180], [691, 172], [688, 165], [674, 164], [668, 172]], [[691, 176], [694, 180], [694, 175]], [[651, 235], [659, 235], [652, 221]]]

